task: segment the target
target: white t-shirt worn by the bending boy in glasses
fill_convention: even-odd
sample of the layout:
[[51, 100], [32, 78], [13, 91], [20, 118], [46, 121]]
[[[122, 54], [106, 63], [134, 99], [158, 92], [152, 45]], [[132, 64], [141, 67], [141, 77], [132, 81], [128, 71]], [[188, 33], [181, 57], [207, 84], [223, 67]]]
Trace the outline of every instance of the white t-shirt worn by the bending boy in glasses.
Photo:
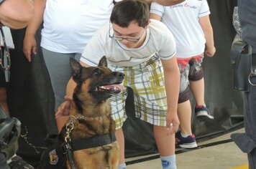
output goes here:
[[[170, 59], [176, 53], [173, 34], [160, 21], [152, 20], [146, 29], [145, 42], [139, 48], [127, 48], [109, 37], [109, 24], [99, 29], [84, 49], [81, 62], [96, 66], [101, 57], [106, 56], [108, 64], [132, 67], [150, 59], [155, 53], [160, 59]], [[110, 34], [113, 29], [110, 26]]]

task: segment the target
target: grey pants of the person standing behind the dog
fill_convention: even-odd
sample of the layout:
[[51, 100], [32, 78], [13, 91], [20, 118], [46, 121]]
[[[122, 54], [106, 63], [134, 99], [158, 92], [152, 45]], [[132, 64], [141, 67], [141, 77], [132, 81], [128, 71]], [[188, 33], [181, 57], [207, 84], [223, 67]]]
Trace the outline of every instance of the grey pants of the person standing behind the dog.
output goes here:
[[68, 80], [71, 77], [70, 72], [70, 57], [80, 60], [80, 53], [62, 54], [51, 52], [42, 48], [42, 54], [45, 58], [45, 64], [50, 74], [52, 82], [52, 90], [55, 95], [55, 111], [58, 110], [60, 104], [64, 101], [65, 90]]

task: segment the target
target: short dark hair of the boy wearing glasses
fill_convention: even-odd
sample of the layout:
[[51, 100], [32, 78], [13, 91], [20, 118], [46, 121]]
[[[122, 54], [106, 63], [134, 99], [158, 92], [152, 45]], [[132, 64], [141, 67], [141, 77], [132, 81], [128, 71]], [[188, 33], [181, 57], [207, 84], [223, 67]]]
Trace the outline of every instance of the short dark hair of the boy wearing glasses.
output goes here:
[[132, 21], [145, 27], [150, 19], [149, 6], [142, 0], [123, 0], [115, 4], [110, 16], [111, 23], [128, 27]]

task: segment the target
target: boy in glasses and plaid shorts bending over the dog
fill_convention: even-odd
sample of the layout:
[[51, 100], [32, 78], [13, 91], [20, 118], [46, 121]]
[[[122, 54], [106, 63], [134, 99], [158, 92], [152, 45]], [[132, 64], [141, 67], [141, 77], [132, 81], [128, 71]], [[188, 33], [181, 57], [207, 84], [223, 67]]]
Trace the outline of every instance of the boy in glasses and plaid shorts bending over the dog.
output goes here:
[[[147, 4], [140, 0], [124, 0], [116, 3], [110, 23], [94, 34], [81, 57], [81, 64], [88, 67], [96, 66], [99, 59], [106, 56], [111, 70], [124, 72], [123, 85], [134, 91], [136, 116], [154, 125], [163, 168], [171, 169], [176, 168], [173, 133], [179, 125], [180, 74], [175, 52], [173, 35], [160, 21], [150, 21]], [[70, 79], [67, 97], [72, 97], [75, 86]], [[126, 97], [127, 91], [111, 97], [111, 114], [116, 121], [116, 140], [120, 149], [119, 168], [126, 168], [122, 132]], [[61, 115], [56, 113], [57, 120]]]

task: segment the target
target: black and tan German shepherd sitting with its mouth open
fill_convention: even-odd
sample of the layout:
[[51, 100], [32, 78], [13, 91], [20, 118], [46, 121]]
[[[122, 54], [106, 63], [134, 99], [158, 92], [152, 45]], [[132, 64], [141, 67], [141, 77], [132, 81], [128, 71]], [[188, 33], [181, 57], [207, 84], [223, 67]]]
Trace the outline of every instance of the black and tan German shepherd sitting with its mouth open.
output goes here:
[[[69, 120], [60, 133], [71, 150], [64, 153], [68, 156], [66, 166], [72, 169], [116, 169], [119, 146], [114, 137], [115, 122], [111, 119], [108, 99], [124, 90], [120, 85], [124, 74], [107, 68], [106, 57], [101, 58], [98, 67], [82, 67], [75, 59], [70, 59], [70, 66], [77, 86]], [[56, 153], [50, 156], [50, 161], [52, 159], [56, 159]]]

